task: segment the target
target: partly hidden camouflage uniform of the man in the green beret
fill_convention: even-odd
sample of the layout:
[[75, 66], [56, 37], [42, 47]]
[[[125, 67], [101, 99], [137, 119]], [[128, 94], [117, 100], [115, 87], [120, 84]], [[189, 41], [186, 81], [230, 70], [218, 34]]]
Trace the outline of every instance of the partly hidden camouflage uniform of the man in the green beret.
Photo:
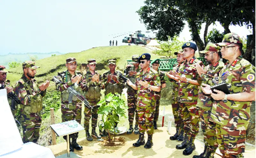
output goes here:
[[[165, 84], [165, 74], [164, 72], [158, 70], [157, 71], [160, 80], [161, 80], [161, 85]], [[155, 113], [155, 117], [154, 117], [154, 122], [156, 122], [158, 120], [159, 117], [159, 106], [160, 106], [160, 98], [161, 98], [161, 91], [160, 92], [155, 92], [155, 96], [156, 96], [156, 113]]]

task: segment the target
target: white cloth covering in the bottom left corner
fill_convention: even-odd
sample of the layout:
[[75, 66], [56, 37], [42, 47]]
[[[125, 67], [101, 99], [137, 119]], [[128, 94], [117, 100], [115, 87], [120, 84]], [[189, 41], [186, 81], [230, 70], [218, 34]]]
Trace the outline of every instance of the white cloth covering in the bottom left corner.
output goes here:
[[6, 89], [0, 90], [0, 158], [55, 158], [51, 149], [32, 142], [23, 144], [12, 116]]

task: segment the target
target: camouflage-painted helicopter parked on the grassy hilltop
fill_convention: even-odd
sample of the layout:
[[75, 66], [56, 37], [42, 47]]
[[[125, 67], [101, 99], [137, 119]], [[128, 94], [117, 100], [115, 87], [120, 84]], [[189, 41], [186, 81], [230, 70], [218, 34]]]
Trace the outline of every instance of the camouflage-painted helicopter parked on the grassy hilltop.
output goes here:
[[[151, 41], [151, 39], [155, 39], [155, 38], [152, 38], [149, 36], [147, 37], [147, 36], [145, 36], [145, 34], [142, 34], [141, 32], [142, 31], [138, 30], [132, 34], [129, 34], [128, 37], [124, 37], [122, 42], [129, 43], [129, 45], [130, 45], [130, 43], [147, 45]], [[143, 32], [150, 33], [151, 31], [143, 31]], [[156, 32], [153, 32], [153, 33], [156, 33]]]

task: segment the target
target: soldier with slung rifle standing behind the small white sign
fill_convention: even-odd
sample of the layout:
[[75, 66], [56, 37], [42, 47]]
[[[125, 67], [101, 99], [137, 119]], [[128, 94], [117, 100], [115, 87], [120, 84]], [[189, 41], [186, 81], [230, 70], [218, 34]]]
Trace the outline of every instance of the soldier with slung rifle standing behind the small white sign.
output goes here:
[[[57, 78], [60, 79], [63, 83], [56, 84], [56, 89], [61, 92], [62, 122], [76, 120], [80, 124], [82, 101], [68, 92], [67, 88], [72, 86], [77, 92], [83, 94], [84, 91], [88, 90], [87, 82], [83, 72], [76, 71], [76, 58], [67, 58], [66, 67], [68, 70], [60, 71], [57, 76]], [[69, 135], [69, 139], [72, 138], [72, 143], [69, 147], [70, 151], [74, 151], [74, 149], [83, 150], [83, 147], [78, 145], [76, 142], [77, 137], [78, 132]], [[63, 138], [67, 140], [67, 136], [64, 136]]]

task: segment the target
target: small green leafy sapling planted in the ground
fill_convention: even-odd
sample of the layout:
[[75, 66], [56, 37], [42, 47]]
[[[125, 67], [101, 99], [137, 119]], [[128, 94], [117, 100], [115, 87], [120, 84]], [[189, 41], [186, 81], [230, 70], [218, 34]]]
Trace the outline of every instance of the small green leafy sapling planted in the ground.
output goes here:
[[[126, 117], [125, 110], [127, 110], [128, 107], [124, 100], [124, 94], [120, 95], [117, 93], [109, 93], [105, 95], [105, 98], [100, 100], [98, 103], [100, 107], [97, 113], [102, 115], [102, 121], [104, 123], [104, 129], [108, 133], [107, 139], [109, 143], [112, 141], [112, 138], [110, 137], [110, 131], [113, 130], [115, 124], [119, 122], [119, 117]], [[100, 126], [100, 128], [102, 127]], [[116, 130], [114, 130], [114, 132], [116, 133]]]

